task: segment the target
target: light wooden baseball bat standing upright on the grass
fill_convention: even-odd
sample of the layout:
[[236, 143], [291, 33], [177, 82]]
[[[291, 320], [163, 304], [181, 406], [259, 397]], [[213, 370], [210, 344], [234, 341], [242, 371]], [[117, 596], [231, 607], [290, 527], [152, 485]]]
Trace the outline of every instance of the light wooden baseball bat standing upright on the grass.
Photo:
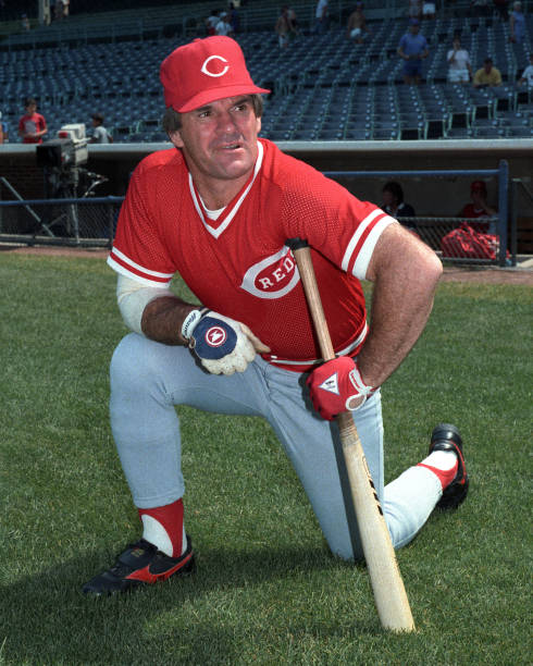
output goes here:
[[[320, 299], [309, 245], [300, 238], [290, 238], [287, 245], [293, 250], [300, 273], [322, 357], [324, 360], [331, 360], [335, 358], [335, 351]], [[357, 428], [349, 411], [339, 414], [336, 421], [377, 615], [385, 629], [413, 631], [414, 621], [406, 589]]]

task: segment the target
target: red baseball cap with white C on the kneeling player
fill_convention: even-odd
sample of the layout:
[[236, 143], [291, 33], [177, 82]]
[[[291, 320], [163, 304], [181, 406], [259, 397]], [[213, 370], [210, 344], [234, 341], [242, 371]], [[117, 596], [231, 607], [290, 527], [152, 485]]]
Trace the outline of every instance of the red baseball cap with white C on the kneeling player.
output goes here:
[[206, 37], [181, 46], [161, 63], [164, 102], [185, 113], [218, 99], [270, 92], [258, 88], [239, 45], [231, 37]]

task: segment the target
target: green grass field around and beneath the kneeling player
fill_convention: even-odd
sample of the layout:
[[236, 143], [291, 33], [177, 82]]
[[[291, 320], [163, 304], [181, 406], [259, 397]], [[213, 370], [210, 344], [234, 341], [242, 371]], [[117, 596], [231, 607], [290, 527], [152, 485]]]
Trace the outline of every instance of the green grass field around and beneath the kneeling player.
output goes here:
[[[386, 480], [457, 423], [467, 502], [398, 553], [413, 634], [380, 629], [268, 424], [179, 408], [197, 572], [120, 599], [80, 585], [138, 536], [111, 439], [124, 334], [103, 261], [0, 255], [0, 664], [529, 664], [532, 289], [442, 284], [383, 390]], [[176, 288], [179, 285], [176, 286]]]

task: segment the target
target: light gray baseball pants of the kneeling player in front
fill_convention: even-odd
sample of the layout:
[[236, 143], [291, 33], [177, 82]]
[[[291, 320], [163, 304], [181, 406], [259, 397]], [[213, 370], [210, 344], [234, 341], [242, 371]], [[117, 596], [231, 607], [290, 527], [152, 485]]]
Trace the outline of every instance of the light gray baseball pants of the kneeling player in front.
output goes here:
[[[111, 428], [137, 507], [163, 506], [184, 495], [174, 405], [260, 416], [284, 447], [331, 551], [345, 559], [362, 558], [338, 430], [310, 408], [306, 375], [275, 368], [259, 356], [246, 372], [213, 375], [198, 366], [186, 347], [163, 345], [136, 333], [121, 341], [110, 372]], [[442, 495], [441, 483], [424, 468], [411, 467], [383, 488], [380, 392], [354, 417], [393, 544], [400, 547], [427, 519]]]

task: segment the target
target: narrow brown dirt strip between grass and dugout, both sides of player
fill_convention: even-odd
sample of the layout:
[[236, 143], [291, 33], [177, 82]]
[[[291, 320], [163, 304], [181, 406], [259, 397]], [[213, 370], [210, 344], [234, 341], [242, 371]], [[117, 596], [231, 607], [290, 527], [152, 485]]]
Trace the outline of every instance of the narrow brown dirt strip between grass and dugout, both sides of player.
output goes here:
[[[23, 255], [49, 255], [52, 257], [90, 257], [107, 259], [108, 249], [78, 247], [14, 247], [0, 245], [0, 251]], [[533, 263], [533, 262], [532, 262]], [[442, 282], [474, 282], [479, 284], [524, 284], [533, 286], [533, 266], [531, 268], [494, 269], [494, 268], [445, 268]]]

